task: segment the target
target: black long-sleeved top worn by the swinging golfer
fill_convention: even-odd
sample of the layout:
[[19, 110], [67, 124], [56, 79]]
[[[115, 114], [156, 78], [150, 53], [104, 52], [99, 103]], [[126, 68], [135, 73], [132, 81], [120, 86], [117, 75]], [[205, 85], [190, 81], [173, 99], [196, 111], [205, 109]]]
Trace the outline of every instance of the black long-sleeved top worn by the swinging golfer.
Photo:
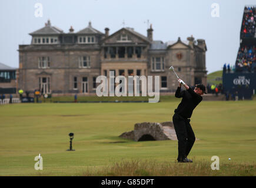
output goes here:
[[182, 100], [174, 112], [184, 118], [190, 118], [195, 107], [202, 101], [202, 97], [195, 93], [190, 87], [182, 91], [181, 87], [178, 87], [175, 92], [175, 97], [182, 98]]

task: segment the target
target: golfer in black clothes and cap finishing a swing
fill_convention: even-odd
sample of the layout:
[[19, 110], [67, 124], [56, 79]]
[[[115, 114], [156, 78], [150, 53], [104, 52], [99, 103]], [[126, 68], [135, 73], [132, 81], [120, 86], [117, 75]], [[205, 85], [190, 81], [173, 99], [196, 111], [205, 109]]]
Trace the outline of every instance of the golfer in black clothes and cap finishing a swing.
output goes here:
[[[175, 92], [176, 98], [182, 98], [178, 108], [174, 110], [174, 116], [172, 122], [174, 123], [174, 129], [178, 138], [178, 162], [191, 163], [192, 160], [188, 159], [188, 153], [195, 142], [195, 135], [192, 130], [190, 117], [195, 107], [202, 101], [202, 96], [205, 92], [205, 86], [202, 84], [195, 85], [195, 89], [192, 90], [181, 79], [178, 79], [179, 86]], [[181, 85], [187, 90], [182, 90]]]

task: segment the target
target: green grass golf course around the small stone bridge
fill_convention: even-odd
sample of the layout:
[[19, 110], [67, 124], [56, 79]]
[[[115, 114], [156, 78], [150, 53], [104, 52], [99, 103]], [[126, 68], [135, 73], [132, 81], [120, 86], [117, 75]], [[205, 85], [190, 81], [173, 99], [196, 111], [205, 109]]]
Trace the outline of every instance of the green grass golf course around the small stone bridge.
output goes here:
[[[191, 118], [200, 139], [192, 164], [176, 162], [177, 141], [118, 137], [138, 122], [171, 120], [179, 101], [1, 105], [0, 175], [256, 175], [256, 100], [202, 101]], [[70, 132], [75, 152], [66, 151]], [[39, 153], [43, 170], [34, 169]], [[211, 170], [212, 156], [220, 157], [220, 170]]]

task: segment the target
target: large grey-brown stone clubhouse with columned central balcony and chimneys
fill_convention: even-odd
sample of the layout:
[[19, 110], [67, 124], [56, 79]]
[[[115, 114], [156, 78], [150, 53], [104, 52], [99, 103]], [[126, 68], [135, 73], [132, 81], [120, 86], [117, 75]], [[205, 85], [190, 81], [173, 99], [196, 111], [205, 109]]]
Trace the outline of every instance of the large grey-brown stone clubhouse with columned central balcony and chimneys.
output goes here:
[[51, 22], [32, 33], [31, 44], [19, 45], [18, 89], [56, 95], [89, 95], [99, 75], [159, 76], [160, 92], [174, 92], [177, 74], [188, 85], [207, 83], [204, 39], [189, 36], [187, 41], [154, 41], [152, 25], [147, 36], [133, 28], [121, 28], [109, 35], [92, 27], [64, 33]]

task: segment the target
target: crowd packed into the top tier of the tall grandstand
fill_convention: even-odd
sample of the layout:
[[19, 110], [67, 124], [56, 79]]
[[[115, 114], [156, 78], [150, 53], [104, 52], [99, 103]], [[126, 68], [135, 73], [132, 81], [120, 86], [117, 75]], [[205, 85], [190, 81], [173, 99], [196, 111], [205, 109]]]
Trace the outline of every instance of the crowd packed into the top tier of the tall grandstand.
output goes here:
[[244, 17], [242, 18], [241, 37], [242, 38], [253, 38], [255, 36], [256, 26], [256, 8], [245, 7]]

